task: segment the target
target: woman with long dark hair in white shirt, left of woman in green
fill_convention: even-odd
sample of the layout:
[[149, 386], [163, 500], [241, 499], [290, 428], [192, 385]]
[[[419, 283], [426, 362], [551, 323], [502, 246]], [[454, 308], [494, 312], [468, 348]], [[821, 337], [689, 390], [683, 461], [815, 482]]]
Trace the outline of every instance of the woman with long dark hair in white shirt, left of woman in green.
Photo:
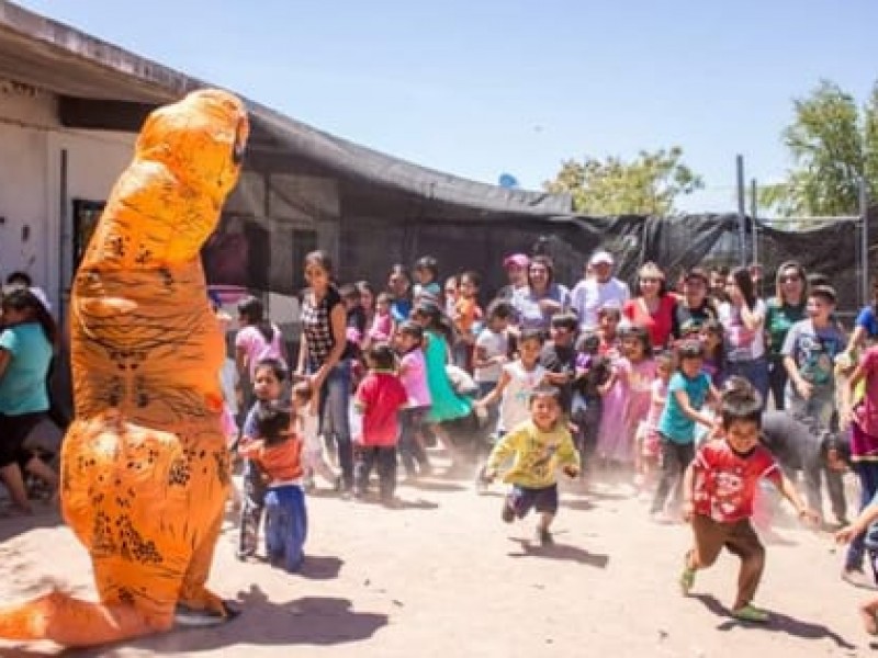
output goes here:
[[725, 375], [747, 379], [762, 395], [768, 393], [768, 362], [765, 358], [765, 302], [756, 298], [746, 268], [735, 268], [725, 280], [728, 302], [719, 308], [725, 329]]

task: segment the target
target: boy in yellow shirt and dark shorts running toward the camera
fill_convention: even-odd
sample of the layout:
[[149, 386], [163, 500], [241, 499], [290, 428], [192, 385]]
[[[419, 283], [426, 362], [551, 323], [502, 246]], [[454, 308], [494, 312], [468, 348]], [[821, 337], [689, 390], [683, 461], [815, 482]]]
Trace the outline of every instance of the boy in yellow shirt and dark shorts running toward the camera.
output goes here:
[[483, 478], [497, 476], [497, 469], [508, 458], [513, 466], [503, 481], [513, 485], [503, 503], [503, 520], [511, 523], [516, 517], [524, 519], [532, 509], [540, 512], [537, 538], [545, 546], [552, 543], [549, 526], [558, 512], [559, 467], [569, 477], [579, 474], [579, 453], [573, 444], [561, 413], [559, 390], [539, 386], [530, 396], [530, 420], [508, 432], [494, 446]]

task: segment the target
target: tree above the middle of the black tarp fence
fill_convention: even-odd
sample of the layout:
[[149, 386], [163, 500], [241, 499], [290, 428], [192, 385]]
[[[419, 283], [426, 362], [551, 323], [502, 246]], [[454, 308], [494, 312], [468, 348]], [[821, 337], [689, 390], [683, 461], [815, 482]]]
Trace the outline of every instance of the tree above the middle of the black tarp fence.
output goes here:
[[683, 149], [640, 151], [630, 162], [566, 160], [554, 180], [543, 183], [548, 192], [573, 196], [573, 207], [588, 215], [669, 215], [674, 201], [703, 188], [701, 177], [683, 163]]

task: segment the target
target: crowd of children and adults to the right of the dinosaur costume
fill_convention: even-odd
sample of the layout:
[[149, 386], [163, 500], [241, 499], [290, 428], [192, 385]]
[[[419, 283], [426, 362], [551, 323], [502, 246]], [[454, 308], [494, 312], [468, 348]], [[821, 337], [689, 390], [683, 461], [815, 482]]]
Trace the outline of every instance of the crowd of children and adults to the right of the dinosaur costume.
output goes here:
[[[438, 445], [451, 470], [472, 466], [480, 491], [502, 475], [510, 486], [502, 519], [536, 510], [542, 545], [553, 541], [559, 470], [585, 486], [630, 484], [632, 496], [651, 501], [653, 520], [691, 525], [683, 590], [724, 546], [742, 560], [732, 614], [755, 622], [766, 619], [753, 602], [764, 548], [750, 521], [755, 514], [758, 526], [767, 504], [761, 483], [817, 522], [825, 479], [843, 526], [837, 538], [851, 542], [843, 577], [856, 580], [866, 563], [878, 580], [878, 531], [869, 531], [878, 520], [878, 347], [864, 349], [878, 322], [873, 331], [858, 319], [848, 341], [834, 291], [798, 263], [778, 269], [766, 303], [755, 272], [743, 268], [695, 268], [672, 286], [646, 263], [631, 296], [612, 275], [612, 257], [599, 251], [571, 293], [554, 280], [551, 259], [519, 253], [504, 263], [509, 285], [483, 307], [479, 273], [440, 286], [431, 257], [418, 259], [414, 276], [394, 265], [379, 292], [368, 282], [337, 286], [322, 252], [306, 261], [320, 270], [309, 282], [325, 280], [308, 311], [325, 324], [317, 347], [324, 356], [342, 354], [348, 373], [351, 445], [328, 441], [339, 432], [326, 413], [330, 366], [315, 377], [302, 364], [317, 351], [296, 361], [259, 299], [240, 300], [222, 378], [229, 445], [243, 463], [241, 559], [256, 554], [264, 515], [269, 559], [297, 570], [307, 491], [322, 484], [369, 500], [376, 470], [378, 500], [394, 507], [397, 470], [409, 479], [435, 474], [427, 447]], [[344, 352], [329, 322], [336, 303]], [[862, 489], [863, 513], [849, 525], [846, 468]], [[797, 492], [798, 472], [810, 508]], [[878, 600], [860, 612], [878, 633]]]

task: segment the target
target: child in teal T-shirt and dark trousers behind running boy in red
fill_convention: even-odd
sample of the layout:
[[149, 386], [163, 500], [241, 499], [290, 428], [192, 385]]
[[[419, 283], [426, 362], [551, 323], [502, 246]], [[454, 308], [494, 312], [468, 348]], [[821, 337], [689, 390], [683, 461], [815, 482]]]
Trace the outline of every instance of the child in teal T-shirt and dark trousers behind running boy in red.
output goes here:
[[713, 427], [713, 418], [702, 411], [706, 402], [719, 399], [710, 376], [703, 371], [705, 349], [700, 341], [684, 340], [677, 348], [677, 372], [667, 386], [667, 401], [658, 420], [662, 440], [662, 478], [655, 489], [650, 513], [657, 521], [669, 521], [665, 503], [672, 487], [679, 506], [676, 486], [695, 456], [696, 424]]

